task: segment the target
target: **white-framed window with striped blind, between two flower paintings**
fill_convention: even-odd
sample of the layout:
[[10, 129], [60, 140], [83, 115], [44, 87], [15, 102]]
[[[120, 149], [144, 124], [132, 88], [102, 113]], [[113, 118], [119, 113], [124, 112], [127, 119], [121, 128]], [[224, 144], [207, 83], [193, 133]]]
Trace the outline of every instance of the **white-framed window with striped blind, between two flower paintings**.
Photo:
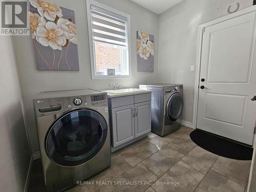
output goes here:
[[87, 1], [92, 78], [131, 77], [130, 15]]

